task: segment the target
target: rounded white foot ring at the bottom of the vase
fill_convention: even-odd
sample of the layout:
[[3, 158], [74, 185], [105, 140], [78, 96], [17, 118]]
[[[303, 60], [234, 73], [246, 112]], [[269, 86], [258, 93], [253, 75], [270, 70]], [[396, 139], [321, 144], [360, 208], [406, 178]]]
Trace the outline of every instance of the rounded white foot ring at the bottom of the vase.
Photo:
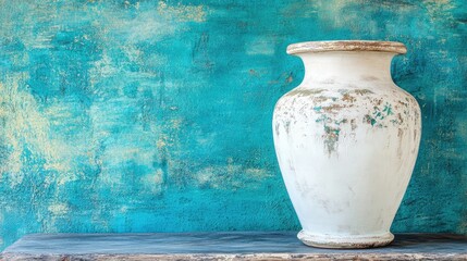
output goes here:
[[374, 248], [386, 246], [394, 240], [392, 233], [379, 236], [331, 237], [311, 235], [300, 231], [297, 237], [305, 245], [317, 248]]

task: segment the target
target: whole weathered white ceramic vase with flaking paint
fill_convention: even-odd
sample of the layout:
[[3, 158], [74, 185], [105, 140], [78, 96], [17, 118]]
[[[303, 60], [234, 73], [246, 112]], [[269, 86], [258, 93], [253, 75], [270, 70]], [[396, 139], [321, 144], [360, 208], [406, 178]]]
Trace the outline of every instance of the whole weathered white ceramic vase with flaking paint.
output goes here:
[[273, 113], [275, 151], [303, 231], [324, 248], [390, 244], [390, 226], [416, 162], [420, 109], [391, 77], [400, 42], [292, 45], [303, 83]]

